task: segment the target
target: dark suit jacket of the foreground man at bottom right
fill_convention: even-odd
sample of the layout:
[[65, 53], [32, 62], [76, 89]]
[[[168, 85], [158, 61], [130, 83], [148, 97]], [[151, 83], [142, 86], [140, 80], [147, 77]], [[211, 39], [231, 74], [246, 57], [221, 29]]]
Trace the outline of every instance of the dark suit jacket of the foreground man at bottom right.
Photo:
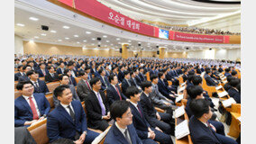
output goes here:
[[194, 144], [221, 144], [212, 130], [192, 116], [188, 122], [191, 139]]

